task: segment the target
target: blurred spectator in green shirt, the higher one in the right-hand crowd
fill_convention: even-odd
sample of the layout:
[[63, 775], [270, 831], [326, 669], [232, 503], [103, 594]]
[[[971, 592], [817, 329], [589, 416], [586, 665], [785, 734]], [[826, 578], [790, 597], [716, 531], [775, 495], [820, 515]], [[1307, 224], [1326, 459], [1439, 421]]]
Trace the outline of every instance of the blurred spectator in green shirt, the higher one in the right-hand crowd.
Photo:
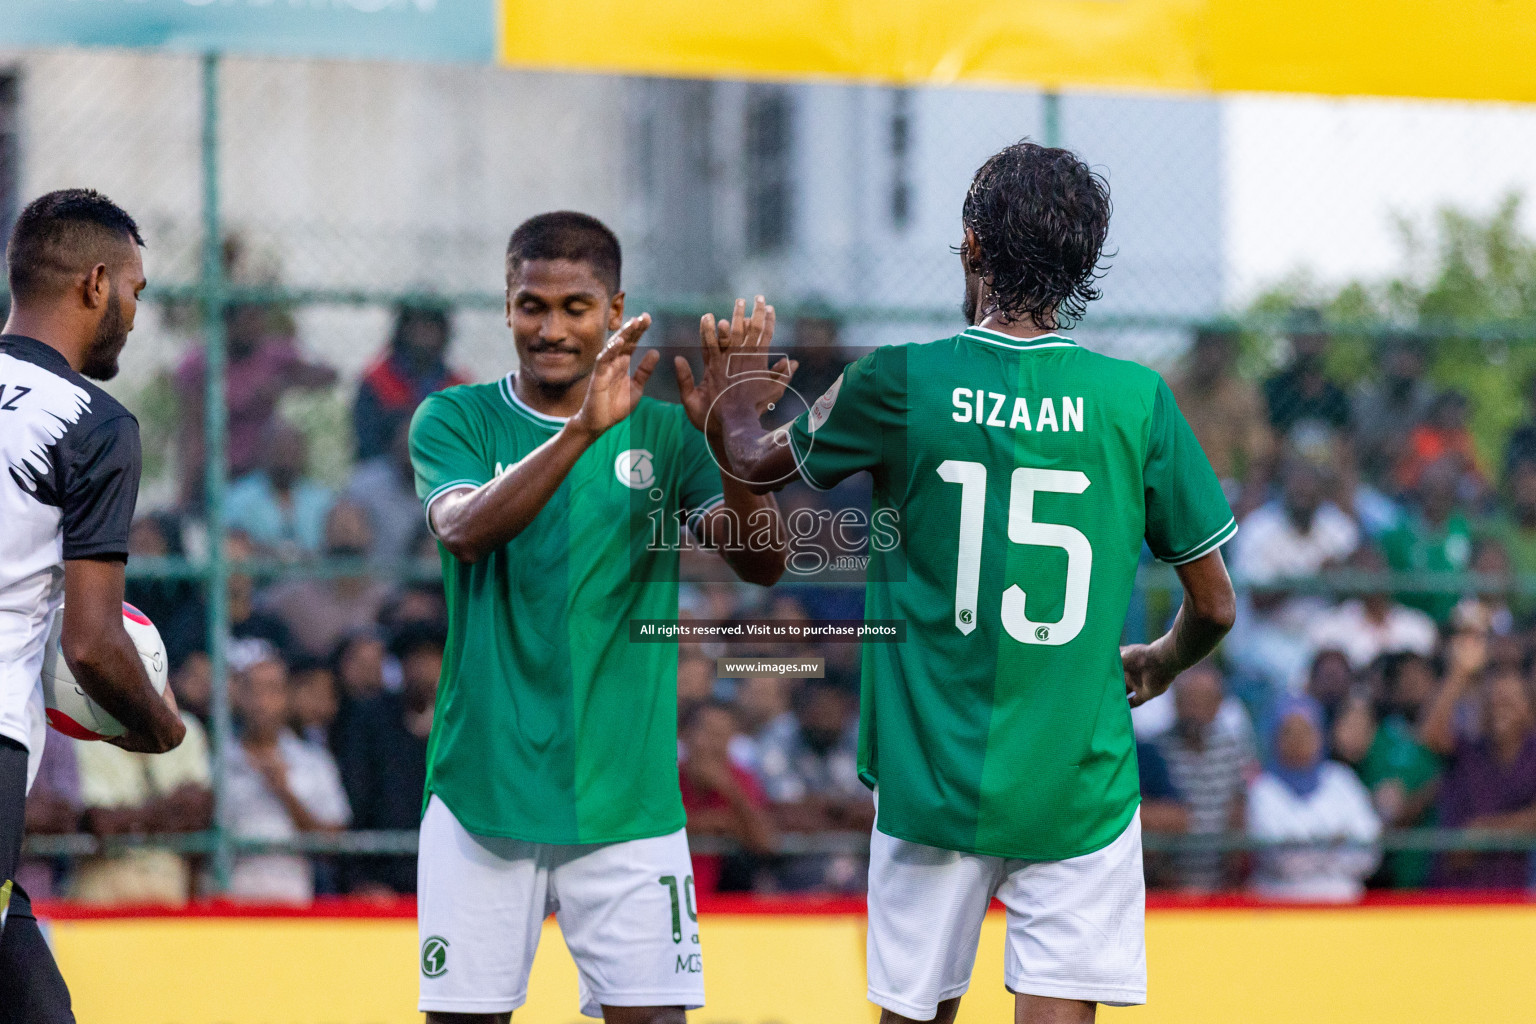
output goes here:
[[[1450, 457], [1425, 467], [1415, 502], [1401, 525], [1381, 539], [1387, 563], [1409, 573], [1465, 571], [1471, 562], [1471, 522], [1461, 508], [1461, 465]], [[1402, 603], [1444, 625], [1456, 608], [1455, 593], [1404, 593]]]

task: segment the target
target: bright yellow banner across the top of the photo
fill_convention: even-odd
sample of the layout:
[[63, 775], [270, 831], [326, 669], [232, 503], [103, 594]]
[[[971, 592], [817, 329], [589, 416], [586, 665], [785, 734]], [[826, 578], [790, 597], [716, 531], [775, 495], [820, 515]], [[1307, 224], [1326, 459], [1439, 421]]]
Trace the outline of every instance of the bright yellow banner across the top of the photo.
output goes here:
[[1536, 100], [1511, 0], [501, 0], [499, 31], [562, 71]]

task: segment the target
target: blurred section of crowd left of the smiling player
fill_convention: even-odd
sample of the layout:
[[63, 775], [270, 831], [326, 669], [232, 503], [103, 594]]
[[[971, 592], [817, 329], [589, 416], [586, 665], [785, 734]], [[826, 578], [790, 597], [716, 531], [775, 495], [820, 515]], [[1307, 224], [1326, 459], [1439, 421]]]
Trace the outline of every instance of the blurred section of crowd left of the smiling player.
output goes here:
[[[209, 740], [214, 692], [203, 585], [131, 579], [127, 600], [166, 642], [187, 740], [170, 754], [146, 757], [52, 734], [28, 801], [28, 831], [190, 835], [218, 817], [232, 837], [252, 844], [235, 858], [233, 898], [307, 903], [316, 894], [413, 892], [409, 857], [310, 858], [255, 844], [418, 824], [447, 622], [439, 583], [415, 583], [390, 570], [435, 557], [406, 442], [416, 404], [462, 379], [445, 362], [447, 309], [396, 310], [389, 342], [352, 398], [356, 457], [339, 488], [315, 479], [306, 434], [280, 415], [290, 391], [336, 385], [335, 370], [300, 355], [280, 310], [233, 306], [224, 330], [235, 743], [215, 752]], [[195, 348], [172, 378], [177, 505], [134, 524], [134, 559], [206, 553], [203, 359]], [[319, 565], [339, 568], [303, 571]], [[226, 778], [218, 808], [215, 757]], [[43, 897], [181, 904], [210, 889], [209, 869], [197, 854], [127, 849], [32, 861], [26, 878]]]

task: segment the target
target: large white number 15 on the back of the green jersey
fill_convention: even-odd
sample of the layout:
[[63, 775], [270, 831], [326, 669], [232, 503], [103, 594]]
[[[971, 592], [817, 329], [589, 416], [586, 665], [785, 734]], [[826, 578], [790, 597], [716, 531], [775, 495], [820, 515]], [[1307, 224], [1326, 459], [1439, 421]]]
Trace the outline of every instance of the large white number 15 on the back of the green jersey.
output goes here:
[[[955, 557], [955, 628], [969, 636], [977, 622], [977, 590], [982, 579], [982, 534], [986, 516], [986, 465], [948, 459], [938, 476], [960, 485], [960, 550]], [[1003, 628], [1020, 643], [1060, 646], [1071, 642], [1087, 622], [1087, 585], [1094, 574], [1094, 548], [1072, 527], [1035, 522], [1035, 494], [1081, 494], [1089, 487], [1077, 470], [1014, 470], [1008, 499], [1009, 543], [1032, 543], [1066, 551], [1066, 602], [1058, 622], [1034, 622], [1025, 614], [1025, 591], [1018, 585], [1003, 591]]]

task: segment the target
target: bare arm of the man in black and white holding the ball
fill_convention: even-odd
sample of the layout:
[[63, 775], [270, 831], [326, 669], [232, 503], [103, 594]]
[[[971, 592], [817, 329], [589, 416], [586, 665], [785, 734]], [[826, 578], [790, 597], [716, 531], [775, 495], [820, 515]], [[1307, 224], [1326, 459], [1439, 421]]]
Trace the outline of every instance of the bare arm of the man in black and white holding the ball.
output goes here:
[[138, 657], [138, 648], [123, 628], [126, 567], [108, 559], [65, 562], [65, 663], [80, 689], [127, 734], [118, 746], [144, 754], [163, 754], [181, 743], [186, 726], [169, 697], [155, 692]]

